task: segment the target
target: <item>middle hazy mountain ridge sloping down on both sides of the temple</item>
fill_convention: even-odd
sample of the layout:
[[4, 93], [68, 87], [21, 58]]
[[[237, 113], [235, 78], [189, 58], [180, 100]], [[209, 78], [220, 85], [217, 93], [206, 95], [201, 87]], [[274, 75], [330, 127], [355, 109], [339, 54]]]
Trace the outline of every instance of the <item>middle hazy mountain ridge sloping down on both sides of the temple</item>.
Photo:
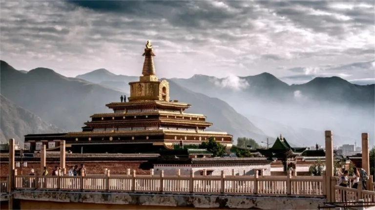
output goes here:
[[[117, 76], [121, 77], [121, 75]], [[47, 122], [68, 131], [77, 131], [81, 130], [90, 115], [111, 112], [105, 104], [120, 101], [121, 95], [127, 95], [127, 91], [112, 89], [122, 89], [117, 87], [118, 81], [109, 81], [106, 84], [105, 80], [108, 78], [99, 77], [104, 80], [105, 86], [111, 87], [105, 88], [84, 81], [83, 77], [68, 78], [44, 68], [22, 73], [1, 61], [1, 94], [37, 113]], [[94, 76], [91, 79], [97, 78]], [[127, 79], [137, 81], [139, 77], [136, 79], [127, 77]], [[126, 82], [123, 83], [124, 87], [129, 87]], [[170, 84], [170, 94], [172, 99], [193, 105], [187, 112], [205, 114], [208, 122], [214, 123], [211, 130], [226, 131], [235, 137], [250, 136], [262, 139], [267, 137], [247, 118], [219, 99], [189, 91], [173, 81]]]

